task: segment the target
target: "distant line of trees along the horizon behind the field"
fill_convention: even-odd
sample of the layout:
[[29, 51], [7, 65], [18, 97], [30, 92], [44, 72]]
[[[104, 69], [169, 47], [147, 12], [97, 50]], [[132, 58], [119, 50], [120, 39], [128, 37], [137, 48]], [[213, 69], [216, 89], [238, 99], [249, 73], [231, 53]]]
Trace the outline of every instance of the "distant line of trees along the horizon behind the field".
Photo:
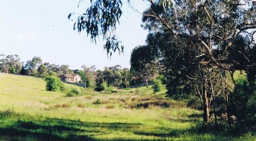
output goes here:
[[[104, 70], [96, 70], [96, 66], [83, 65], [82, 69], [72, 70], [69, 65], [50, 64], [42, 62], [38, 56], [34, 56], [32, 60], [20, 62], [18, 55], [4, 55], [0, 58], [0, 72], [19, 75], [30, 75], [40, 77], [42, 79], [53, 75], [79, 75], [82, 77], [82, 83], [86, 83], [86, 87], [103, 91], [106, 87], [137, 87], [139, 85], [148, 85], [148, 82], [153, 82], [159, 75], [158, 71], [152, 71], [150, 76], [145, 73], [137, 73], [130, 71], [129, 68], [122, 68], [120, 65], [104, 67]], [[162, 78], [162, 77], [158, 77]]]

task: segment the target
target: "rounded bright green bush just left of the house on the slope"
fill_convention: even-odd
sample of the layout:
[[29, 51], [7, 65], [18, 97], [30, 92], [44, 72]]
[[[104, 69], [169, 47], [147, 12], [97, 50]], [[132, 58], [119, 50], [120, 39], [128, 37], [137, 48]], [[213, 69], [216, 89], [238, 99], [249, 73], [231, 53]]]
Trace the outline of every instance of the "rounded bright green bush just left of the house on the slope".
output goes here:
[[49, 76], [44, 79], [46, 81], [46, 90], [47, 91], [57, 91], [63, 89], [63, 84], [61, 83], [61, 79], [54, 76]]

